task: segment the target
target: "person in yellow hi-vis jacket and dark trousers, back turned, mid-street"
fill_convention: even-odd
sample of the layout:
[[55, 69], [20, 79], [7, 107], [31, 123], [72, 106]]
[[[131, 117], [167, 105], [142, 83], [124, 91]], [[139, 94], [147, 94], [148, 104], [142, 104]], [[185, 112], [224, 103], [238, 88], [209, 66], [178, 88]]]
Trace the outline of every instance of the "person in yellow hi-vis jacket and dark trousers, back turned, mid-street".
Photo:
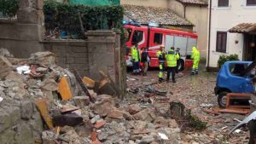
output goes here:
[[174, 47], [172, 47], [166, 53], [166, 61], [167, 61], [167, 78], [166, 81], [169, 82], [170, 73], [172, 72], [172, 83], [176, 83], [175, 81], [175, 73], [177, 68], [177, 60], [179, 59], [179, 55], [176, 51], [174, 51]]

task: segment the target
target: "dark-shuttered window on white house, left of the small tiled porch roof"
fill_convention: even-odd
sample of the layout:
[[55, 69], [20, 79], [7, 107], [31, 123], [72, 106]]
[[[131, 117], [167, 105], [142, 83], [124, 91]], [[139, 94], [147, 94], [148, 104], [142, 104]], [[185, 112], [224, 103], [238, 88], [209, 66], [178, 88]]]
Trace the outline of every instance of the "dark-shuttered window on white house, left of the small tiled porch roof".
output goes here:
[[225, 53], [227, 47], [227, 32], [217, 32], [216, 51]]

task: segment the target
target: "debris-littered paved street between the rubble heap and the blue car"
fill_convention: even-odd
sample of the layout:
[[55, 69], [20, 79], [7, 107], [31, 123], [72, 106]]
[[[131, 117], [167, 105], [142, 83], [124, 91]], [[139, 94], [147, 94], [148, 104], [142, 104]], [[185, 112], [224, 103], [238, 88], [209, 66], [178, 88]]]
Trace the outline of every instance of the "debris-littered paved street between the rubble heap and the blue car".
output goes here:
[[[227, 133], [238, 124], [238, 120], [245, 118], [244, 115], [234, 113], [220, 113], [218, 110], [217, 96], [214, 95], [217, 73], [205, 72], [201, 65], [199, 75], [190, 76], [189, 71], [177, 74], [177, 83], [157, 83], [158, 71], [156, 69], [148, 71], [147, 76], [133, 76], [128, 74], [127, 85], [130, 92], [130, 101], [135, 101], [135, 97], [143, 95], [143, 88], [152, 84], [154, 89], [168, 91], [164, 101], [181, 101], [183, 105], [191, 110], [195, 116], [207, 122], [206, 130], [189, 130], [181, 128], [181, 143], [247, 143], [247, 127], [241, 128], [239, 133], [228, 136]], [[140, 88], [134, 90], [136, 88]], [[137, 92], [138, 91], [138, 92]], [[134, 95], [131, 95], [134, 93]], [[161, 96], [158, 96], [161, 97]], [[168, 103], [158, 103], [154, 101], [154, 107], [161, 109]], [[168, 107], [168, 106], [167, 106]], [[165, 108], [164, 108], [165, 109]], [[166, 111], [164, 111], [166, 112]], [[164, 113], [163, 112], [163, 113]], [[236, 118], [236, 119], [234, 119]], [[238, 130], [239, 131], [239, 130]]]

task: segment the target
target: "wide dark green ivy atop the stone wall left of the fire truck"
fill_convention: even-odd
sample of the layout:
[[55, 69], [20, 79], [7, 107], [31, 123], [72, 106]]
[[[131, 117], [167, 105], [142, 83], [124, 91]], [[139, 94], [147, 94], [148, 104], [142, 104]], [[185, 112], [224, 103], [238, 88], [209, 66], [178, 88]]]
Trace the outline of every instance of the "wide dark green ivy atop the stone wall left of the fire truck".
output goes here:
[[81, 14], [85, 31], [122, 28], [123, 9], [119, 5], [89, 7], [69, 3], [56, 3], [53, 0], [44, 1], [45, 28], [47, 31], [58, 28], [74, 37], [83, 37], [79, 13]]

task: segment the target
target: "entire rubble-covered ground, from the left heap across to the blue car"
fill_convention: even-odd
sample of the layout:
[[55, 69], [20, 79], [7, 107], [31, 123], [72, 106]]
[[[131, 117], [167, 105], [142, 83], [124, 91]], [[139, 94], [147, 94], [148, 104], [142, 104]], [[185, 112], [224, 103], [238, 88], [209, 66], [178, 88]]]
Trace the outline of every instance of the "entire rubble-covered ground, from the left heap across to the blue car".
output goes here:
[[0, 63], [1, 144], [247, 142], [246, 129], [226, 135], [244, 116], [214, 111], [216, 73], [203, 68], [196, 76], [180, 72], [177, 84], [159, 84], [157, 70], [147, 77], [128, 72], [121, 100], [107, 74], [85, 81], [84, 90], [78, 74], [57, 66], [50, 52], [16, 59], [0, 49]]

